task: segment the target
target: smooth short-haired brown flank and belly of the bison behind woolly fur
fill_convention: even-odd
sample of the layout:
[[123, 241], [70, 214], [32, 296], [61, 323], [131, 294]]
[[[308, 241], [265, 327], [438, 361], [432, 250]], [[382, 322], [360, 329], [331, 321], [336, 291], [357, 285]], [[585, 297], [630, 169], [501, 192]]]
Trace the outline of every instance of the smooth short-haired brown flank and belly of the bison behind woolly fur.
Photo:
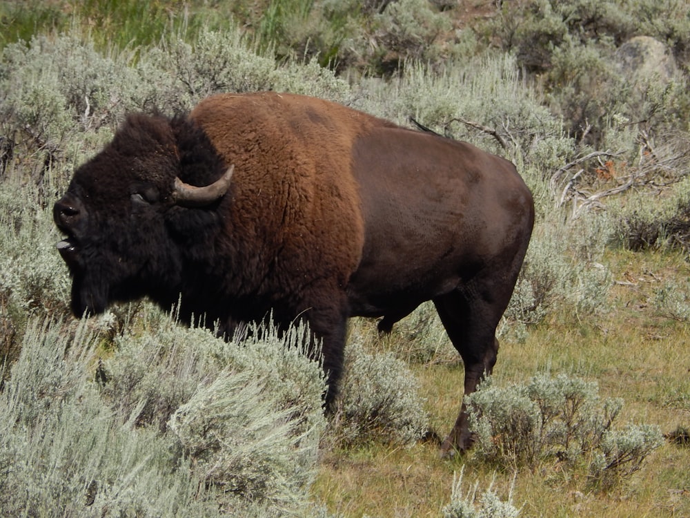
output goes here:
[[513, 240], [501, 185], [517, 175], [505, 160], [383, 128], [355, 144], [353, 162], [365, 238], [348, 284], [353, 316], [387, 316], [392, 325], [463, 285], [504, 253], [497, 243]]

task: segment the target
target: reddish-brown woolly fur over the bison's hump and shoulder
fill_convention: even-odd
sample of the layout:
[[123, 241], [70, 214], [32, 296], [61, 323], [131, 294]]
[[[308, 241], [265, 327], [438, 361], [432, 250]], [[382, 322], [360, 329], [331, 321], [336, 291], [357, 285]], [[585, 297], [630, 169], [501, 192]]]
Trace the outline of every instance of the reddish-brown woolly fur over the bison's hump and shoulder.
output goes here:
[[321, 99], [275, 93], [210, 97], [190, 118], [235, 164], [232, 235], [270, 247], [271, 258], [279, 252], [284, 275], [274, 289], [294, 291], [305, 279], [323, 277], [346, 286], [364, 245], [348, 157], [357, 135], [392, 124]]

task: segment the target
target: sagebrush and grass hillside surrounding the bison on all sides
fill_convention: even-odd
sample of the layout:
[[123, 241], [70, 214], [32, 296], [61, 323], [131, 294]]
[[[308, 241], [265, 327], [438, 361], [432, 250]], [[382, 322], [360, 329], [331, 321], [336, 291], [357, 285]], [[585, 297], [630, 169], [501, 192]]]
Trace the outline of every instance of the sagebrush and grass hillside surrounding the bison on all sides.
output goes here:
[[[0, 1], [0, 515], [690, 515], [690, 5]], [[315, 95], [512, 160], [537, 221], [440, 460], [433, 306], [355, 319], [335, 416], [306, 329], [228, 343], [146, 300], [77, 321], [52, 205], [132, 111]]]

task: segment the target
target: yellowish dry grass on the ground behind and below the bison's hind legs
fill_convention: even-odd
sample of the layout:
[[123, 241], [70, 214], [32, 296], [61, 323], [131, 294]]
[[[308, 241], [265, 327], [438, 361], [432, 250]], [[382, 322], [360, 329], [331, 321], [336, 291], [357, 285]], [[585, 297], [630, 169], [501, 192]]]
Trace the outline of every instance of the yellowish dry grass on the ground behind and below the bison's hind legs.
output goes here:
[[[586, 321], [564, 311], [531, 330], [525, 343], [505, 342], [495, 371], [501, 385], [549, 370], [598, 381], [602, 397], [625, 401], [618, 426], [659, 425], [664, 433], [690, 428], [690, 326], [653, 307], [663, 282], [687, 278], [679, 254], [612, 253], [615, 280], [610, 311]], [[457, 413], [462, 364], [413, 365], [428, 399], [433, 430], [448, 432]], [[324, 453], [314, 498], [344, 517], [436, 517], [449, 503], [453, 472], [465, 466], [478, 481], [508, 495], [513, 473], [496, 472], [472, 455], [442, 461], [433, 442], [411, 448], [368, 444]], [[629, 483], [612, 492], [589, 492], [586, 473], [542, 466], [520, 472], [513, 501], [523, 517], [690, 515], [690, 449], [671, 443], [654, 452]]]

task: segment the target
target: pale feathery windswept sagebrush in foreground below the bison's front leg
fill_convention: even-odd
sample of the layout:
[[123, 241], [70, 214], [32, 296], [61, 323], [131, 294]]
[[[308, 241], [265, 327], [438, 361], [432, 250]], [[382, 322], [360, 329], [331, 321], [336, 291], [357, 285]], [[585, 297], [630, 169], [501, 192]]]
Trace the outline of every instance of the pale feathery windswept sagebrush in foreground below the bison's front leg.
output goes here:
[[[299, 433], [294, 415], [302, 409], [278, 410], [272, 387], [254, 376], [221, 371], [172, 414], [168, 426], [197, 476], [224, 495], [224, 510], [262, 501], [288, 511], [303, 503], [315, 477], [320, 430]], [[306, 448], [311, 455], [300, 455]]]

